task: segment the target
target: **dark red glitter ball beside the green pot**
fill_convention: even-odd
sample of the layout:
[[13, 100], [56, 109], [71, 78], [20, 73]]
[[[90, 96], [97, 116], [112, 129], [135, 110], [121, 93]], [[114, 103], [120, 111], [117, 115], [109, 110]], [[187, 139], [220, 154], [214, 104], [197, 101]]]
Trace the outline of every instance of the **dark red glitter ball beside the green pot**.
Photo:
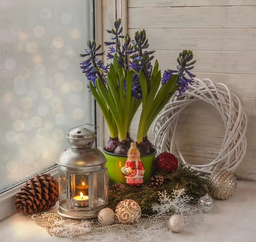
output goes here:
[[178, 168], [178, 160], [175, 155], [169, 152], [161, 153], [154, 161], [156, 171], [166, 171], [170, 174]]

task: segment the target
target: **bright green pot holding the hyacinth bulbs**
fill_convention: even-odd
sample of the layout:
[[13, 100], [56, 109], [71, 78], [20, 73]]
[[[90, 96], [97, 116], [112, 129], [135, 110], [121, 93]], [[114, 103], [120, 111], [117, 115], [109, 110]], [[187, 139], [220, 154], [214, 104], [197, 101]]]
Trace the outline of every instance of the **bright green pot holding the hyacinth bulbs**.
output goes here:
[[[105, 150], [103, 151], [104, 151], [105, 157], [108, 159], [106, 163], [106, 167], [108, 168], [109, 177], [113, 179], [115, 182], [125, 183], [126, 179], [121, 172], [121, 168], [125, 166], [127, 156], [109, 153]], [[145, 184], [149, 182], [150, 178], [154, 174], [154, 159], [155, 159], [156, 153], [157, 152], [155, 151], [154, 154], [140, 157], [140, 159], [143, 162], [143, 166], [145, 168], [145, 174], [143, 177], [143, 181]]]

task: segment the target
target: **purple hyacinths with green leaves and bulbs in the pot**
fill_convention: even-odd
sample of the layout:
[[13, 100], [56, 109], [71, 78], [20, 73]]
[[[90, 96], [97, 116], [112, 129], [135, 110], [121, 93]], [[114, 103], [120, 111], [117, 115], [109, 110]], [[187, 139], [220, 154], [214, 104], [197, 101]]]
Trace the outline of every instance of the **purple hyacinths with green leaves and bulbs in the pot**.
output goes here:
[[[155, 51], [148, 51], [146, 32], [137, 31], [134, 40], [128, 34], [122, 35], [121, 19], [114, 22], [114, 29], [107, 30], [112, 35], [108, 59], [111, 64], [105, 65], [98, 57], [105, 54], [99, 52], [95, 40], [88, 41], [88, 49], [81, 57], [81, 69], [90, 81], [88, 88], [98, 103], [108, 124], [110, 140], [106, 151], [126, 155], [131, 144], [129, 129], [140, 105], [142, 112], [137, 133], [137, 146], [141, 155], [154, 153], [154, 146], [147, 138], [148, 130], [157, 114], [177, 93], [180, 96], [193, 82], [190, 70], [194, 68], [192, 51], [183, 50], [177, 57], [177, 70], [164, 71], [163, 77], [157, 60], [154, 66], [151, 61]], [[123, 45], [120, 39], [124, 39]], [[188, 77], [186, 77], [186, 74]]]

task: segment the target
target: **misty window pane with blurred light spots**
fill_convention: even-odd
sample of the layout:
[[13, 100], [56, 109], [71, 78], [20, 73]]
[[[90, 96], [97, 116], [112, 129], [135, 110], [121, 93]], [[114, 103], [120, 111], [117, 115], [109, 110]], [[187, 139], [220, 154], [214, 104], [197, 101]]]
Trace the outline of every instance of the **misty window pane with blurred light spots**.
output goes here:
[[94, 122], [79, 68], [92, 2], [0, 1], [0, 192], [52, 168], [69, 128]]

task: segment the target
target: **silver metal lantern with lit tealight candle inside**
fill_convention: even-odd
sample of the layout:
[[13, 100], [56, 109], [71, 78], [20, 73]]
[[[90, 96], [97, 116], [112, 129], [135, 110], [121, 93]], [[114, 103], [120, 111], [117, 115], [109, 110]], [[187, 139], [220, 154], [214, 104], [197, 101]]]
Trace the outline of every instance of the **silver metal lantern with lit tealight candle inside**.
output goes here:
[[70, 128], [67, 139], [71, 147], [64, 150], [57, 161], [58, 214], [73, 219], [97, 217], [108, 205], [107, 159], [101, 151], [91, 147], [96, 130], [79, 128], [82, 125]]

